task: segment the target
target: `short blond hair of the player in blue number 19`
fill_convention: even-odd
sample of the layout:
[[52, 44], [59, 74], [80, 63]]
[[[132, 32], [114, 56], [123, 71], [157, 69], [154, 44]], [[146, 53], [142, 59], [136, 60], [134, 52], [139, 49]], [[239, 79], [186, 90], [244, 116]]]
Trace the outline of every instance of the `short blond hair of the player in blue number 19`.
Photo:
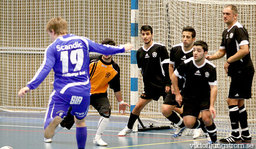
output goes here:
[[66, 20], [62, 19], [61, 17], [53, 17], [50, 21], [46, 24], [46, 32], [53, 31], [57, 35], [63, 35], [68, 33], [68, 23]]

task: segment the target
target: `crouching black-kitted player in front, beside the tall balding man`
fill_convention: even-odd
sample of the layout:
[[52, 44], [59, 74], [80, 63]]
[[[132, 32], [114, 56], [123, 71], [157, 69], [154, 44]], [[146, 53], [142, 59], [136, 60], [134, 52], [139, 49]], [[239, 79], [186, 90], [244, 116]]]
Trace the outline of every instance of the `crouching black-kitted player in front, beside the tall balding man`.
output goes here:
[[[217, 142], [217, 130], [212, 115], [216, 115], [214, 102], [217, 97], [217, 73], [215, 65], [205, 59], [208, 46], [204, 41], [193, 44], [193, 57], [183, 61], [171, 76], [176, 101], [183, 107], [183, 121], [187, 128], [204, 128], [212, 142]], [[185, 78], [183, 99], [178, 87], [178, 77]], [[202, 112], [203, 122], [197, 120]]]

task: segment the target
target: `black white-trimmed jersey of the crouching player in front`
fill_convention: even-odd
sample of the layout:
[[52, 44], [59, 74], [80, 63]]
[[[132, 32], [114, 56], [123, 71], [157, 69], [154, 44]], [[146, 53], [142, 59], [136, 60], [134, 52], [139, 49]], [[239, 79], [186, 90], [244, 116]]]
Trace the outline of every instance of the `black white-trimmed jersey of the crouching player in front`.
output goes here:
[[195, 63], [194, 57], [183, 61], [174, 71], [179, 78], [185, 78], [182, 89], [185, 98], [202, 99], [210, 96], [210, 85], [217, 85], [215, 65], [206, 60], [200, 66]]

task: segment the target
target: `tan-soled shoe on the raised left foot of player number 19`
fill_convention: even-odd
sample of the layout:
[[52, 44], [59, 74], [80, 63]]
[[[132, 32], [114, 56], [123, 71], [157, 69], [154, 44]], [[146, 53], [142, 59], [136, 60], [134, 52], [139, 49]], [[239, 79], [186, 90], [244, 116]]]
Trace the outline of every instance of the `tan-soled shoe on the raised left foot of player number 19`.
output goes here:
[[56, 116], [54, 119], [50, 122], [50, 124], [45, 128], [45, 138], [49, 139], [54, 136], [55, 128], [60, 124], [61, 117]]

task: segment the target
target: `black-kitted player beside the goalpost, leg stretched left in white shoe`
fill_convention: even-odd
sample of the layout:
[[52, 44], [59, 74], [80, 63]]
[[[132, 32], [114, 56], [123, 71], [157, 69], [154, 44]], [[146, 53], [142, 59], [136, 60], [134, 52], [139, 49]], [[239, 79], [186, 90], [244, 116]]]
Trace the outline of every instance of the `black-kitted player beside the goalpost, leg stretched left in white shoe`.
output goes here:
[[139, 101], [132, 110], [127, 126], [118, 133], [118, 136], [125, 136], [132, 133], [132, 126], [140, 115], [140, 111], [152, 100], [163, 99], [170, 90], [169, 77], [169, 54], [163, 44], [155, 43], [152, 40], [153, 29], [149, 25], [140, 28], [141, 38], [144, 45], [136, 53], [137, 64], [142, 72], [144, 91]]

